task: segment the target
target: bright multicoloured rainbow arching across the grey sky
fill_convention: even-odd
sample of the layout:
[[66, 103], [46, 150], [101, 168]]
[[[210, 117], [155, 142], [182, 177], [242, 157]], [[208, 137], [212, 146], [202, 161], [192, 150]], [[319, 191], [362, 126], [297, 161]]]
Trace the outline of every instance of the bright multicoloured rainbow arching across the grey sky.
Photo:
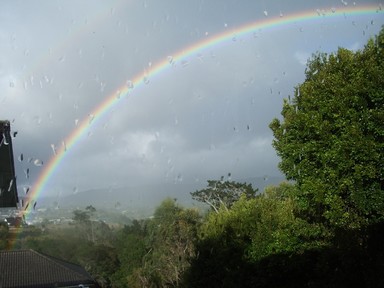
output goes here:
[[[172, 67], [173, 64], [182, 61], [183, 59], [192, 56], [198, 51], [207, 49], [209, 47], [215, 46], [219, 43], [223, 43], [227, 40], [231, 40], [234, 36], [239, 37], [243, 35], [250, 34], [260, 29], [272, 29], [274, 27], [280, 27], [288, 24], [298, 24], [306, 22], [309, 20], [324, 20], [324, 19], [334, 19], [334, 18], [344, 18], [349, 16], [363, 16], [363, 15], [374, 15], [377, 13], [382, 13], [382, 7], [379, 5], [365, 5], [365, 6], [345, 6], [336, 10], [317, 10], [317, 11], [304, 11], [290, 15], [278, 15], [276, 17], [266, 16], [262, 20], [257, 20], [256, 22], [248, 23], [243, 26], [228, 29], [217, 35], [204, 38], [200, 42], [197, 42], [189, 47], [176, 52], [172, 57], [167, 56], [159, 62], [155, 63], [149, 67], [146, 71], [137, 74], [134, 76], [131, 81], [123, 83], [118, 87], [115, 92], [107, 96], [104, 101], [99, 103], [93, 111], [89, 113], [81, 122], [78, 123], [76, 128], [67, 136], [61, 145], [56, 150], [56, 154], [45, 164], [44, 169], [38, 176], [38, 179], [32, 186], [32, 190], [29, 193], [28, 201], [35, 201], [39, 195], [45, 190], [50, 178], [55, 173], [59, 164], [63, 161], [68, 150], [72, 149], [75, 146], [81, 137], [86, 134], [86, 131], [94, 125], [100, 117], [106, 114], [113, 106], [117, 105], [122, 98], [126, 97], [131, 91], [137, 89], [137, 87], [144, 84], [146, 79], [153, 78], [154, 76], [162, 73], [163, 71]], [[24, 208], [24, 216], [28, 216], [31, 209], [29, 205], [28, 209]]]

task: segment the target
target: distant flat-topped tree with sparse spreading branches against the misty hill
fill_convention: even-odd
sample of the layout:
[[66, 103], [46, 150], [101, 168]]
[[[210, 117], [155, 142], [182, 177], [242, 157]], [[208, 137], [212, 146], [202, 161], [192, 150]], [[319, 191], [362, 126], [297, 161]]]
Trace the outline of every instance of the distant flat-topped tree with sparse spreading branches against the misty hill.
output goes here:
[[251, 184], [234, 181], [208, 180], [208, 187], [191, 192], [194, 200], [208, 204], [216, 213], [224, 206], [229, 209], [241, 195], [247, 198], [256, 196], [258, 189], [253, 189]]

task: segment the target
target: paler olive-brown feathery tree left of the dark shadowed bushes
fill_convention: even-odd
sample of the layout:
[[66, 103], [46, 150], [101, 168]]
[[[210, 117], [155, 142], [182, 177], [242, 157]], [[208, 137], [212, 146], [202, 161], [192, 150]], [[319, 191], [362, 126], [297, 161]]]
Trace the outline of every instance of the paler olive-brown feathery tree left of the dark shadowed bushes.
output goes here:
[[180, 287], [194, 258], [200, 216], [166, 199], [146, 223], [147, 253], [140, 268], [128, 277], [129, 287]]

